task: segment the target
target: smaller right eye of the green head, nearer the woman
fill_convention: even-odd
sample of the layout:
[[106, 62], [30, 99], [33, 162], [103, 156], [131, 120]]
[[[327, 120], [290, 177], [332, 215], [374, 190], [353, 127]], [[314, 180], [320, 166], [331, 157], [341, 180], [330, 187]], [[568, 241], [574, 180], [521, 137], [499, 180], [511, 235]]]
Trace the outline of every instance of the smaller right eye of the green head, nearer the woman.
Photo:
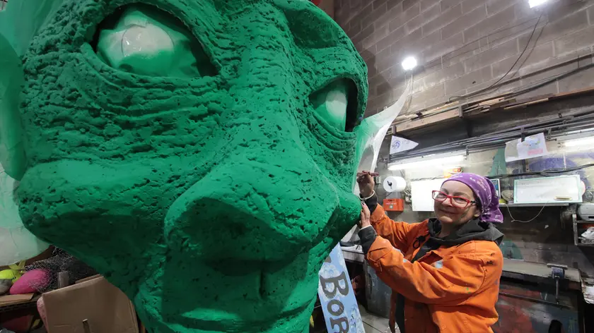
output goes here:
[[356, 125], [356, 87], [351, 80], [336, 80], [314, 92], [310, 102], [315, 112], [340, 131], [352, 132]]

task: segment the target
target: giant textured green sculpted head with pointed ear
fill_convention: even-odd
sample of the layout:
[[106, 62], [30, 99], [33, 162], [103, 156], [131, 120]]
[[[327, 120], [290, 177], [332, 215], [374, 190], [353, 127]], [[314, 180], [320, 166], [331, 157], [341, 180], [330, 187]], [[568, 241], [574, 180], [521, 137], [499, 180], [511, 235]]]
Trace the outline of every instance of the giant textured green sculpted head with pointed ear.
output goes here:
[[0, 162], [30, 231], [151, 332], [307, 331], [359, 159], [400, 111], [359, 124], [338, 25], [308, 1], [25, 0], [0, 31]]

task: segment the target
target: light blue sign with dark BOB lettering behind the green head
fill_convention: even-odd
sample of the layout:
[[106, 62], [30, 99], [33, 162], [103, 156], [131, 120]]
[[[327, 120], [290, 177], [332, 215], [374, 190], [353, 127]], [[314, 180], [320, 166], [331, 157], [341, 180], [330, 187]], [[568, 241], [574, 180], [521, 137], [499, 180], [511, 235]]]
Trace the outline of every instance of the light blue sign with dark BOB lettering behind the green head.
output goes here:
[[365, 333], [340, 244], [326, 258], [318, 275], [318, 296], [328, 332]]

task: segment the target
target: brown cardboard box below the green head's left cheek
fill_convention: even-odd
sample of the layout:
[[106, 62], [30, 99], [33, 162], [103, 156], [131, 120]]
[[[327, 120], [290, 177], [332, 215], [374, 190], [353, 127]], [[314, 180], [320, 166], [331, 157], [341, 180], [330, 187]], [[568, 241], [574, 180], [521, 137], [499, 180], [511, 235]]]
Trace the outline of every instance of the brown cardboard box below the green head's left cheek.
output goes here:
[[43, 294], [48, 333], [138, 333], [134, 306], [103, 277]]

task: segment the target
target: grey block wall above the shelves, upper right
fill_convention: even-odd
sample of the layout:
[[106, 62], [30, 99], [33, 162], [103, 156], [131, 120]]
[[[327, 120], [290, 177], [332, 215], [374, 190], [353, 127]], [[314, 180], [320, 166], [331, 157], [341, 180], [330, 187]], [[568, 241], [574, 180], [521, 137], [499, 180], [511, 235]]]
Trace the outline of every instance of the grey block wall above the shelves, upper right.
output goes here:
[[[592, 63], [594, 1], [561, 3], [542, 11], [541, 17], [529, 8], [528, 0], [335, 0], [334, 19], [368, 64], [366, 115], [400, 97], [411, 78], [400, 63], [405, 56], [417, 57], [420, 66], [414, 71], [409, 113], [496, 83], [526, 45], [526, 52], [503, 81], [521, 80], [475, 98], [518, 90]], [[567, 61], [571, 62], [559, 66]], [[523, 97], [593, 85], [594, 69], [590, 68]]]

